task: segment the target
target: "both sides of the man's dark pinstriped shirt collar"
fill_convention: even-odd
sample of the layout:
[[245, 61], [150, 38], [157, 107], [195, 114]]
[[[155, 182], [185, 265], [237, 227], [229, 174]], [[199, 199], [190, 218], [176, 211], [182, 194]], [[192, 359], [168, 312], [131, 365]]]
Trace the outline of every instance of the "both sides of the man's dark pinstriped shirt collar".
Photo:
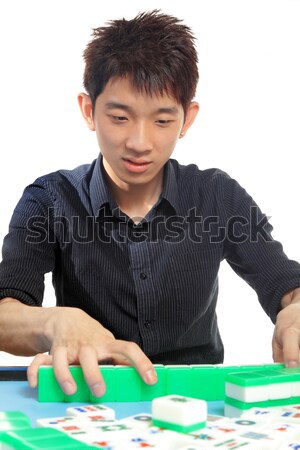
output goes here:
[[[90, 181], [90, 198], [95, 217], [98, 216], [99, 210], [107, 204], [110, 205], [111, 210], [117, 208], [117, 204], [109, 191], [105, 178], [105, 170], [103, 167], [102, 155], [100, 153], [94, 163]], [[178, 185], [172, 160], [169, 160], [165, 165], [163, 191], [160, 199], [167, 200], [174, 208], [175, 212], [178, 211]]]

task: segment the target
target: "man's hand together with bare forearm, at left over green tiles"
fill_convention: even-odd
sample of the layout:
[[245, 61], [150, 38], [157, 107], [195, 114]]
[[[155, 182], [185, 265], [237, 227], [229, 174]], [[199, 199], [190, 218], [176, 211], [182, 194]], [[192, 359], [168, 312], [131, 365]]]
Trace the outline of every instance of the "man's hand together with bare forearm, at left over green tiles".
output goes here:
[[3, 318], [6, 325], [3, 350], [27, 356], [41, 352], [28, 367], [31, 387], [37, 385], [39, 367], [52, 364], [62, 390], [72, 395], [77, 387], [69, 364], [80, 364], [91, 392], [100, 397], [105, 393], [105, 383], [99, 362], [107, 360], [134, 366], [147, 384], [157, 381], [151, 361], [137, 344], [115, 339], [110, 331], [81, 309], [32, 307], [15, 299], [5, 299], [0, 305], [1, 320]]

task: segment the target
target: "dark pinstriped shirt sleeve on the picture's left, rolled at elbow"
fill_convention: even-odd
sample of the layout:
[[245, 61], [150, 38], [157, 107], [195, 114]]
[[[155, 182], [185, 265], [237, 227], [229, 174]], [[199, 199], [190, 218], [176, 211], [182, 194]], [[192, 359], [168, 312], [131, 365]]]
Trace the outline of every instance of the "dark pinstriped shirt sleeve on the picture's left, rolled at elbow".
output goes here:
[[55, 242], [49, 230], [53, 202], [43, 183], [27, 187], [4, 239], [0, 264], [0, 299], [13, 297], [40, 306], [44, 275], [55, 265]]

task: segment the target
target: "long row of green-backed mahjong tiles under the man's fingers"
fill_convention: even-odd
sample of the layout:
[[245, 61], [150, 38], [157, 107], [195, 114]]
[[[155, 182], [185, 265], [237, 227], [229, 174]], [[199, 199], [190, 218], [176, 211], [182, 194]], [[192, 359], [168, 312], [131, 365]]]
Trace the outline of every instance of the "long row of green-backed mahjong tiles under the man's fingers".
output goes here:
[[[260, 379], [264, 380], [270, 378], [275, 380], [276, 378], [276, 380], [281, 380], [281, 389], [284, 386], [282, 381], [285, 379], [291, 379], [293, 382], [300, 381], [300, 369], [286, 369], [283, 364], [229, 367], [223, 365], [155, 365], [158, 381], [152, 386], [143, 383], [141, 377], [133, 367], [99, 367], [107, 386], [106, 394], [100, 399], [101, 402], [150, 401], [155, 397], [168, 394], [179, 394], [207, 401], [224, 400], [226, 377], [239, 373], [245, 375], [249, 373], [249, 379], [251, 378], [251, 374], [256, 374], [257, 378], [260, 377]], [[99, 399], [90, 393], [85, 383], [81, 367], [70, 366], [70, 371], [79, 388], [75, 395], [66, 396], [55, 378], [53, 368], [49, 366], [41, 367], [39, 369], [38, 383], [39, 401], [99, 401]], [[278, 384], [279, 381], [276, 381], [276, 383]], [[126, 390], [123, 389], [124, 384], [127, 386]], [[276, 389], [274, 388], [275, 391]], [[297, 397], [297, 395], [300, 394], [297, 394], [295, 391], [293, 396]], [[229, 395], [229, 397], [232, 396]], [[232, 398], [235, 397], [233, 396]], [[273, 399], [272, 395], [270, 399]]]

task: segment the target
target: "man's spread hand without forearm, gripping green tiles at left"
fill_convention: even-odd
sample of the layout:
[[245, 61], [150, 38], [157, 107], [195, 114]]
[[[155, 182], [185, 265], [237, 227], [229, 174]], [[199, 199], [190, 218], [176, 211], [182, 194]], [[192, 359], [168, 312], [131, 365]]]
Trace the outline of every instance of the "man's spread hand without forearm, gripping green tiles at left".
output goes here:
[[45, 326], [45, 342], [50, 355], [37, 355], [28, 368], [28, 382], [37, 385], [38, 368], [53, 364], [57, 381], [67, 395], [76, 392], [69, 364], [80, 364], [91, 392], [100, 397], [105, 383], [99, 371], [99, 361], [112, 360], [114, 364], [134, 366], [147, 384], [157, 381], [149, 358], [133, 343], [114, 338], [99, 322], [77, 308], [49, 308], [51, 312]]

